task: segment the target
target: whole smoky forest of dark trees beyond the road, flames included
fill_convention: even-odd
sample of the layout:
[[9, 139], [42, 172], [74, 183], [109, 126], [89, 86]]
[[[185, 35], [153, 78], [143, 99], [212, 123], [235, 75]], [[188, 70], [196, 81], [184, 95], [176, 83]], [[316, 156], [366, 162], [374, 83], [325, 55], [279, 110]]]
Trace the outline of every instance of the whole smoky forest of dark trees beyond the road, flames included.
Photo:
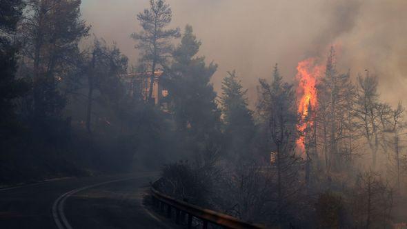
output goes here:
[[214, 90], [217, 63], [166, 1], [137, 14], [135, 64], [80, 7], [1, 0], [0, 183], [155, 169], [162, 192], [267, 226], [406, 221], [405, 109], [375, 72], [342, 71], [328, 47], [297, 76], [276, 63], [249, 106], [235, 70]]

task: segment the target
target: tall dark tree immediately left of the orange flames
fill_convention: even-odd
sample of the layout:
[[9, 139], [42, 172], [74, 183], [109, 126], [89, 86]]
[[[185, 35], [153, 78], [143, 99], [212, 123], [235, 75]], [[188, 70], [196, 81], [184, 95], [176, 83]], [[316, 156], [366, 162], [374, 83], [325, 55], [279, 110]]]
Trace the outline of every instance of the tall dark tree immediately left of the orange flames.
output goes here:
[[260, 79], [259, 83], [257, 109], [267, 121], [270, 141], [272, 141], [270, 170], [276, 177], [276, 192], [272, 197], [275, 208], [272, 211], [272, 217], [279, 226], [284, 226], [292, 216], [292, 203], [298, 201], [301, 190], [299, 185], [301, 159], [295, 155], [297, 139], [295, 93], [291, 84], [282, 81], [277, 65], [272, 83], [264, 79]]

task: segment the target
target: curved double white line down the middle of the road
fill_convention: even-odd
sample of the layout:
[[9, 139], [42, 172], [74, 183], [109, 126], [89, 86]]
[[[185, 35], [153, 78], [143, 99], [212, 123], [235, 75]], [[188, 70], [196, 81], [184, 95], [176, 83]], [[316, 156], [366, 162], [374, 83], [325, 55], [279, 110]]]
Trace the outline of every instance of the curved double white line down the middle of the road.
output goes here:
[[59, 229], [72, 229], [72, 226], [70, 226], [70, 223], [68, 222], [68, 219], [66, 219], [65, 212], [63, 212], [63, 207], [65, 205], [66, 199], [70, 197], [71, 195], [74, 195], [77, 192], [81, 192], [83, 190], [87, 190], [89, 188], [95, 188], [97, 186], [103, 186], [108, 183], [114, 183], [114, 182], [119, 182], [119, 181], [127, 181], [130, 179], [137, 179], [138, 177], [130, 177], [130, 178], [123, 178], [123, 179], [117, 179], [113, 181], [106, 181], [102, 183], [97, 183], [91, 186], [85, 186], [82, 188], [77, 188], [74, 190], [70, 190], [69, 192], [64, 193], [58, 199], [54, 201], [52, 204], [52, 217], [54, 217], [55, 224], [57, 224], [57, 227]]

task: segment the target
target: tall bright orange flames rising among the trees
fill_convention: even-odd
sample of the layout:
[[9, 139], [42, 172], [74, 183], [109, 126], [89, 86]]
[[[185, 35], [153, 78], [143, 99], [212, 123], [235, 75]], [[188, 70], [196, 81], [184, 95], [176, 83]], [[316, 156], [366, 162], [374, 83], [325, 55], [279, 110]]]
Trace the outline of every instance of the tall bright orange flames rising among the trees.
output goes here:
[[[318, 65], [315, 58], [308, 58], [300, 61], [297, 66], [296, 79], [298, 81], [297, 99], [298, 110], [301, 116], [301, 121], [297, 126], [297, 130], [304, 132], [307, 126], [314, 125], [312, 120], [306, 120], [309, 112], [309, 107], [317, 106], [317, 80], [321, 76], [324, 66]], [[305, 150], [304, 136], [297, 139], [297, 149], [302, 153]]]

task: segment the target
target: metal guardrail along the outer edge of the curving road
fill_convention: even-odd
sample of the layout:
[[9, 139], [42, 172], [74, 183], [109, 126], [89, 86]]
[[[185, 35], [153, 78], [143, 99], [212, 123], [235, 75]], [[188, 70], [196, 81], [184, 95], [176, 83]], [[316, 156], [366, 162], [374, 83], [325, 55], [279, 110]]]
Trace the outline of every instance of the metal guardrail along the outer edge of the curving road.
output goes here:
[[208, 223], [222, 226], [224, 228], [236, 228], [236, 229], [264, 229], [263, 226], [240, 221], [230, 215], [225, 215], [213, 210], [200, 208], [199, 206], [186, 203], [185, 201], [179, 201], [168, 195], [151, 188], [152, 203], [158, 207], [161, 212], [165, 212], [167, 217], [172, 216], [172, 210], [175, 210], [175, 223], [180, 224], [185, 222], [187, 216], [187, 227], [192, 228], [192, 219], [195, 217], [201, 219], [203, 222], [203, 229], [208, 228]]

